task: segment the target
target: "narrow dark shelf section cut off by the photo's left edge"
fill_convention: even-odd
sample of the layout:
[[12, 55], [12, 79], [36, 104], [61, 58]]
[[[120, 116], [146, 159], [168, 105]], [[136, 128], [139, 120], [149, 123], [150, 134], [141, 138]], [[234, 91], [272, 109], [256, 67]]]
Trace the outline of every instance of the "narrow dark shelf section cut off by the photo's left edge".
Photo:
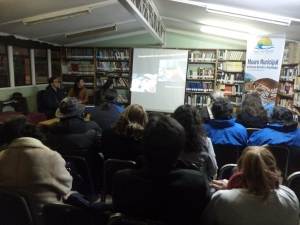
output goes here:
[[0, 88], [9, 87], [7, 47], [0, 44]]

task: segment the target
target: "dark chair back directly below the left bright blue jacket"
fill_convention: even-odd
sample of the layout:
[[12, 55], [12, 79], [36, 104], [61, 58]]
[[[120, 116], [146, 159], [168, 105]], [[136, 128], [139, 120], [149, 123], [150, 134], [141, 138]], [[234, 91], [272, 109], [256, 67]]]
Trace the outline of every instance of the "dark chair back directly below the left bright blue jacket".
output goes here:
[[239, 159], [239, 147], [235, 145], [213, 145], [216, 154], [219, 175], [222, 166], [237, 163]]

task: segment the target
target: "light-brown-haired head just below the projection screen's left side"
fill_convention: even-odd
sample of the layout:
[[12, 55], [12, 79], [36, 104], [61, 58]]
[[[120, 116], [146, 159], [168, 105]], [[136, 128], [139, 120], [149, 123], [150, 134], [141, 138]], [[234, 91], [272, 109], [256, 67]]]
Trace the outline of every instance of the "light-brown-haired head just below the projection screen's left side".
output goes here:
[[129, 105], [120, 114], [120, 118], [112, 125], [112, 129], [118, 135], [125, 137], [141, 138], [148, 122], [146, 110], [138, 104]]

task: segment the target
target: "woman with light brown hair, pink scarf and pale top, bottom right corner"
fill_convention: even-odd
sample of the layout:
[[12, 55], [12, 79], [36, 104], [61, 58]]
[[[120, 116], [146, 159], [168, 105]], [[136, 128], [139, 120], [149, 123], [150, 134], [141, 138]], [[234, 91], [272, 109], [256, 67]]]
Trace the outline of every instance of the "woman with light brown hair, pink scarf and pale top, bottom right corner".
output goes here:
[[276, 160], [268, 149], [247, 147], [237, 169], [229, 181], [211, 184], [219, 191], [204, 211], [204, 225], [298, 224], [297, 196], [288, 187], [279, 185]]

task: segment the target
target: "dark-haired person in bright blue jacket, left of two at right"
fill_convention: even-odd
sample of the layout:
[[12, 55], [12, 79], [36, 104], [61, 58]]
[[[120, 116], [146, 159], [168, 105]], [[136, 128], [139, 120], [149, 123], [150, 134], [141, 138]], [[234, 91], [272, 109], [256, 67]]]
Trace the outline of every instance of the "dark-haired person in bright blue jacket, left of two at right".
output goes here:
[[211, 138], [213, 145], [235, 145], [241, 149], [247, 146], [246, 128], [235, 122], [232, 118], [232, 105], [225, 98], [217, 98], [211, 111], [214, 119], [205, 123], [207, 136]]

